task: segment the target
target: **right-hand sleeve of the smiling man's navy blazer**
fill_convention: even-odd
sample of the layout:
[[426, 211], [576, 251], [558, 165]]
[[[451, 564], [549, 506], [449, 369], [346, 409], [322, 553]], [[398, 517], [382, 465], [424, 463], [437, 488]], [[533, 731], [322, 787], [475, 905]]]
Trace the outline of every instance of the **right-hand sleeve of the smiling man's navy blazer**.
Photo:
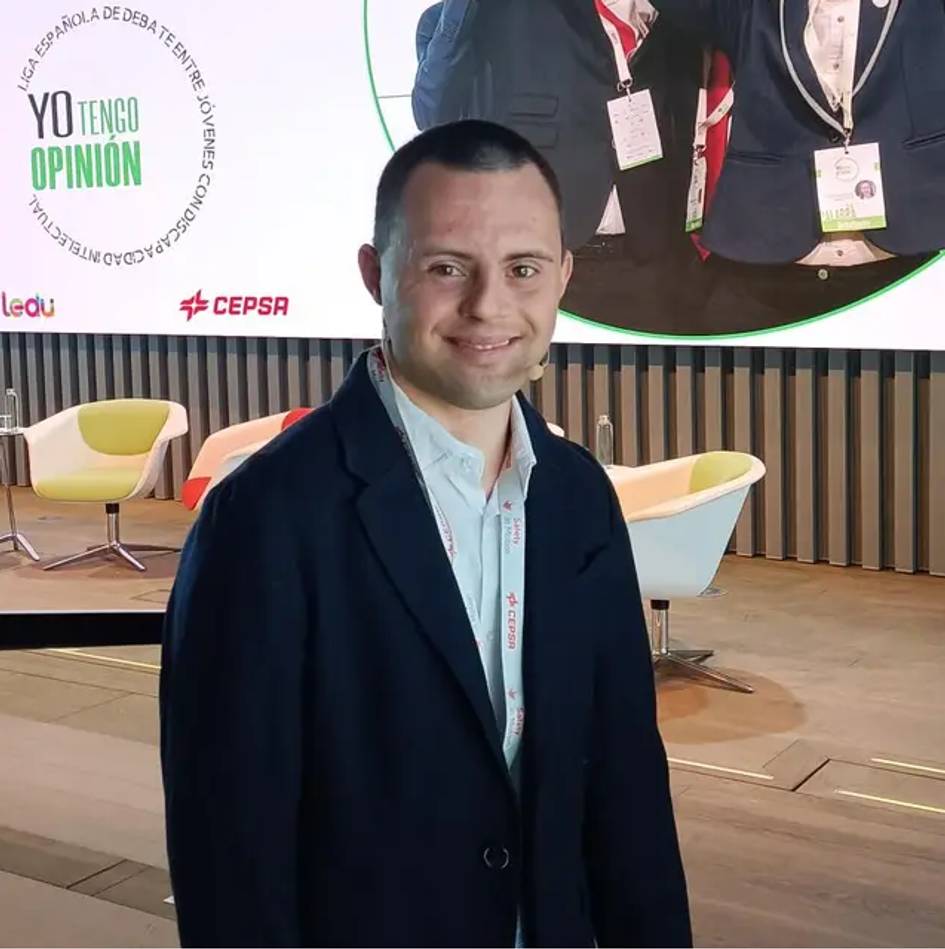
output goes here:
[[643, 606], [627, 528], [607, 487], [610, 541], [593, 567], [602, 608], [585, 813], [591, 914], [600, 946], [691, 946]]

